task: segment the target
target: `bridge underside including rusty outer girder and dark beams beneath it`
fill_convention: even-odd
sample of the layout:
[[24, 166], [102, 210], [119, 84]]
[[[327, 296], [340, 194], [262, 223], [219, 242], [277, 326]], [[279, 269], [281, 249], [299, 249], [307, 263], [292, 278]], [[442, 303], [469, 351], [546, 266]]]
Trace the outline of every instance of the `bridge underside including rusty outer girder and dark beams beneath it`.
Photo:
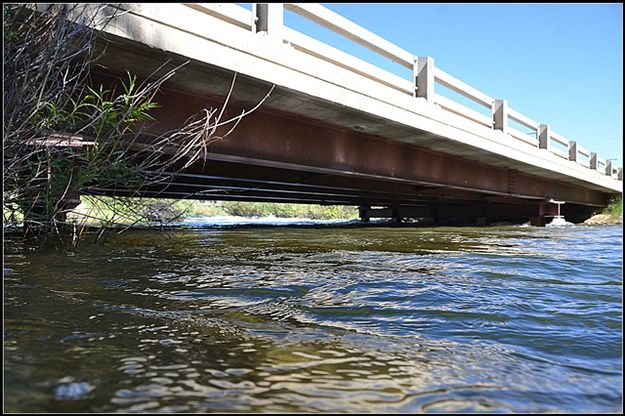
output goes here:
[[[164, 91], [156, 101], [162, 107], [146, 133], [176, 129], [202, 108], [220, 107], [223, 97]], [[225, 116], [238, 115], [242, 108], [231, 101]], [[581, 222], [609, 196], [264, 108], [208, 150], [204, 160], [182, 171], [173, 166], [169, 181], [145, 187], [140, 195], [354, 205], [361, 207], [365, 220], [418, 217], [440, 224], [541, 224], [545, 216], [557, 214], [557, 207], [548, 203], [551, 198], [567, 201], [562, 214]], [[97, 186], [90, 193], [137, 195], [135, 190]]]

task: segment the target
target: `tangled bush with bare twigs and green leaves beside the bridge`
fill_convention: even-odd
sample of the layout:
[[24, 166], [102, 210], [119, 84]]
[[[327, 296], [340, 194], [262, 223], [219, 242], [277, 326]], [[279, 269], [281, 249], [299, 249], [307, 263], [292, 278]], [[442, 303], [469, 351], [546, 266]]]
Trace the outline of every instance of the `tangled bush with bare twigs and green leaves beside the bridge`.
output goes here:
[[90, 186], [134, 190], [149, 180], [126, 148], [136, 139], [132, 127], [153, 120], [167, 76], [139, 83], [127, 73], [110, 88], [91, 86], [99, 35], [87, 23], [96, 9], [3, 5], [3, 220], [23, 221], [32, 237], [59, 234]]

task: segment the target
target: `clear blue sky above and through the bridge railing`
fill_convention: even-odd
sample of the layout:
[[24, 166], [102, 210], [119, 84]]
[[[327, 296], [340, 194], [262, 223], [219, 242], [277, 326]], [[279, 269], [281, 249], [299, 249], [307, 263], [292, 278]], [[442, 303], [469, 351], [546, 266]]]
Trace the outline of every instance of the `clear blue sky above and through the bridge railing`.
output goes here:
[[[323, 4], [622, 166], [622, 4]], [[411, 77], [291, 12], [285, 24]]]

